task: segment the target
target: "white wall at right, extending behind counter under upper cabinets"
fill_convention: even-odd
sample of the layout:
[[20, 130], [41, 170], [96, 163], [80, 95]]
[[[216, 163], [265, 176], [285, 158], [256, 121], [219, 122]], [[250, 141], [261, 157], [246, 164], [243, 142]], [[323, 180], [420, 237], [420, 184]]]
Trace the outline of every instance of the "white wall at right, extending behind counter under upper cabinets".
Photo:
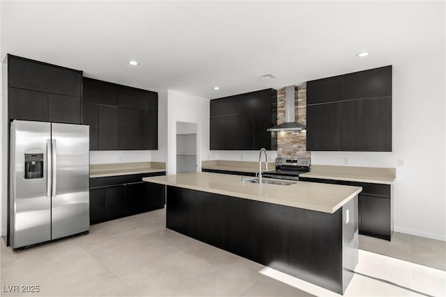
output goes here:
[[312, 152], [312, 163], [397, 168], [394, 231], [445, 241], [445, 56], [392, 64], [393, 152]]

